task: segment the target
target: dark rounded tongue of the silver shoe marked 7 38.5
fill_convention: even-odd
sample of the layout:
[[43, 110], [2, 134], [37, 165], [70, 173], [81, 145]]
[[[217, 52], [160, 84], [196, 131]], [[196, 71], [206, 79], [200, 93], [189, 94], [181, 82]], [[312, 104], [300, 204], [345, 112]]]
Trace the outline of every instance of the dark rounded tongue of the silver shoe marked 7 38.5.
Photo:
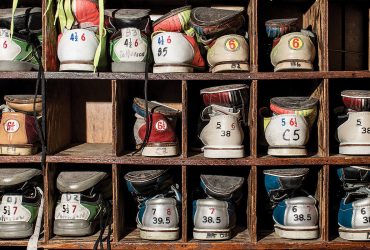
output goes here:
[[212, 198], [229, 200], [244, 183], [244, 178], [239, 176], [201, 175], [201, 187]]

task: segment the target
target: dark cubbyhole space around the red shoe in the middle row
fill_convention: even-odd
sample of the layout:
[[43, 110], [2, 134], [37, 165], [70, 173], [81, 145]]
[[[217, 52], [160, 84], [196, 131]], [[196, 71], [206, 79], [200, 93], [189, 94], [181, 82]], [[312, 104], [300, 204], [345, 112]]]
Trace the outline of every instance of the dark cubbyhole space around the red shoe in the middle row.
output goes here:
[[[148, 83], [148, 101], [157, 101], [173, 109], [183, 111], [181, 81], [150, 81]], [[116, 97], [116, 154], [131, 154], [138, 148], [135, 141], [136, 122], [133, 110], [134, 98], [145, 100], [144, 81], [117, 81]], [[144, 105], [145, 111], [145, 105]], [[154, 123], [155, 121], [153, 121]], [[181, 155], [182, 117], [177, 117], [175, 133], [178, 141], [178, 155]], [[173, 127], [173, 124], [171, 124]], [[145, 125], [143, 125], [145, 126]], [[143, 130], [144, 131], [144, 130]], [[155, 131], [153, 131], [155, 132]], [[137, 132], [136, 132], [137, 133]], [[151, 132], [152, 134], [152, 132]], [[154, 134], [154, 133], [153, 133]], [[139, 137], [140, 137], [139, 133]], [[140, 137], [141, 139], [144, 136]], [[162, 138], [166, 140], [166, 138]], [[140, 155], [138, 152], [136, 155]]]

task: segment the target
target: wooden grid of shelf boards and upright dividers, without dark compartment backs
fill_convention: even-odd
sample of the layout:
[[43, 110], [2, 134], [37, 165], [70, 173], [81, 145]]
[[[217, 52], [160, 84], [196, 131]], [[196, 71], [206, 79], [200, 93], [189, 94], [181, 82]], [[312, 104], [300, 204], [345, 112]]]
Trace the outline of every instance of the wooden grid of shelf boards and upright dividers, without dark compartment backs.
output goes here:
[[[284, 1], [284, 4], [294, 4], [294, 1]], [[42, 0], [42, 8], [45, 11], [46, 0]], [[328, 192], [329, 185], [333, 181], [330, 172], [337, 166], [350, 164], [369, 164], [370, 156], [343, 156], [330, 151], [330, 130], [329, 118], [331, 102], [330, 88], [335, 81], [340, 79], [369, 79], [370, 71], [329, 71], [329, 9], [331, 1], [329, 0], [306, 0], [305, 3], [312, 3], [303, 13], [300, 13], [300, 20], [304, 26], [312, 25], [318, 35], [318, 55], [317, 67], [319, 71], [314, 72], [264, 72], [260, 70], [260, 64], [266, 63], [259, 57], [259, 47], [261, 38], [264, 36], [264, 30], [259, 30], [259, 17], [262, 16], [261, 1], [250, 0], [248, 6], [249, 16], [249, 45], [250, 45], [250, 68], [248, 73], [174, 73], [174, 74], [153, 74], [149, 73], [150, 81], [175, 82], [181, 92], [181, 99], [178, 104], [182, 109], [182, 119], [178, 123], [181, 126], [181, 132], [178, 137], [181, 138], [181, 154], [177, 157], [169, 158], [145, 158], [141, 156], [131, 156], [127, 150], [128, 138], [127, 132], [128, 118], [123, 113], [130, 109], [127, 105], [128, 99], [132, 96], [126, 91], [129, 86], [138, 82], [142, 84], [144, 80], [143, 73], [78, 73], [78, 72], [57, 72], [58, 60], [56, 56], [57, 32], [53, 26], [54, 16], [52, 11], [43, 15], [43, 61], [45, 65], [45, 77], [47, 79], [47, 128], [48, 128], [48, 149], [49, 155], [46, 158], [47, 165], [44, 173], [44, 192], [45, 192], [45, 213], [44, 213], [44, 236], [39, 241], [41, 248], [45, 249], [91, 249], [94, 244], [93, 237], [70, 239], [64, 241], [57, 239], [52, 232], [53, 214], [55, 209], [55, 178], [56, 168], [63, 168], [66, 164], [75, 164], [81, 170], [88, 170], [95, 167], [101, 167], [112, 173], [112, 194], [113, 194], [113, 249], [310, 249], [310, 248], [361, 248], [367, 247], [365, 242], [349, 242], [338, 238], [333, 238], [336, 233], [330, 228], [330, 199]], [[297, 3], [296, 3], [297, 4]], [[54, 8], [55, 6], [52, 6]], [[370, 12], [369, 12], [370, 16]], [[282, 16], [283, 17], [283, 16]], [[370, 30], [370, 26], [369, 26]], [[370, 32], [369, 32], [370, 33]], [[370, 40], [370, 38], [369, 38]], [[370, 47], [370, 45], [369, 45]], [[369, 48], [370, 58], [370, 48]], [[370, 69], [370, 60], [369, 60]], [[9, 79], [24, 79], [33, 83], [37, 79], [36, 72], [0, 72], [1, 81]], [[317, 152], [313, 155], [303, 158], [277, 158], [267, 156], [265, 152], [258, 148], [258, 100], [262, 98], [259, 89], [263, 84], [271, 85], [271, 88], [284, 88], [281, 80], [296, 80], [299, 82], [316, 81], [319, 82], [316, 91], [309, 94], [319, 98], [320, 108], [317, 126]], [[104, 136], [104, 139], [97, 139], [95, 142], [89, 140], [73, 140], [72, 119], [74, 112], [71, 96], [77, 88], [88, 89], [84, 81], [91, 81], [93, 88], [106, 88], [111, 91], [106, 110], [109, 111], [108, 117], [111, 122], [107, 126], [111, 137]], [[211, 82], [212, 81], [212, 82]], [[72, 83], [73, 82], [73, 86]], [[249, 140], [245, 142], [246, 151], [249, 154], [241, 159], [207, 159], [201, 153], [192, 152], [189, 147], [189, 141], [194, 138], [189, 137], [188, 127], [190, 122], [196, 122], [189, 119], [189, 103], [194, 97], [189, 95], [191, 88], [203, 86], [203, 84], [215, 83], [215, 85], [228, 84], [231, 82], [243, 82], [250, 85], [250, 107], [249, 123], [247, 131]], [[365, 81], [363, 81], [365, 82]], [[311, 84], [311, 83], [309, 83]], [[314, 85], [315, 83], [312, 83]], [[66, 87], [68, 85], [68, 87]], [[74, 87], [75, 86], [75, 87]], [[366, 86], [366, 84], [364, 84]], [[297, 88], [299, 85], [297, 84]], [[94, 102], [94, 97], [92, 97]], [[83, 104], [79, 104], [84, 105]], [[109, 120], [108, 119], [108, 120]], [[330, 119], [330, 121], [329, 121]], [[84, 117], [81, 117], [84, 120]], [[109, 139], [107, 139], [109, 137]], [[0, 163], [38, 163], [40, 155], [35, 156], [0, 156]], [[140, 240], [137, 237], [137, 231], [132, 231], [129, 235], [125, 234], [127, 223], [125, 211], [120, 209], [124, 207], [124, 202], [128, 197], [123, 192], [124, 180], [122, 173], [127, 169], [140, 169], [148, 166], [153, 167], [171, 167], [175, 168], [181, 175], [182, 187], [182, 235], [181, 239], [175, 242], [149, 242]], [[308, 166], [310, 168], [319, 168], [318, 172], [318, 193], [320, 213], [320, 238], [313, 241], [292, 241], [276, 238], [269, 232], [266, 237], [262, 237], [263, 232], [258, 230], [258, 225], [263, 218], [257, 216], [258, 193], [264, 190], [258, 189], [258, 176], [262, 168], [282, 167], [282, 166]], [[246, 190], [247, 199], [247, 222], [246, 230], [237, 237], [229, 241], [221, 242], [201, 242], [192, 240], [189, 213], [192, 209], [189, 207], [190, 190], [189, 176], [197, 168], [210, 170], [229, 170], [230, 168], [249, 170], [246, 179], [248, 190]], [[332, 227], [335, 230], [335, 227]], [[26, 246], [27, 241], [2, 241], [0, 246]]]

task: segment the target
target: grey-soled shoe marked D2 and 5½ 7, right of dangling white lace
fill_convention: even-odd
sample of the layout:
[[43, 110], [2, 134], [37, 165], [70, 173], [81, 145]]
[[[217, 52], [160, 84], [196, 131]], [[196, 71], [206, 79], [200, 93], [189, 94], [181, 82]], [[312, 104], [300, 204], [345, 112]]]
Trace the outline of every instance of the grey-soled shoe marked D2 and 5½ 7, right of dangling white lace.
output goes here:
[[105, 172], [90, 171], [64, 171], [58, 175], [61, 197], [55, 208], [54, 234], [79, 237], [96, 232], [108, 209], [111, 180], [107, 177]]

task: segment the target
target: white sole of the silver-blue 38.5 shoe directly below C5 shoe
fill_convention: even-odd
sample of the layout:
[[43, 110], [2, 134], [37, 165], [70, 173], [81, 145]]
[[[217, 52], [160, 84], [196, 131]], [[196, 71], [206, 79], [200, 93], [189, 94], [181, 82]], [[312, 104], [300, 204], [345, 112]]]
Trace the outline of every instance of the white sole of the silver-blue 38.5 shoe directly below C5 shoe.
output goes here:
[[275, 225], [275, 233], [286, 239], [311, 240], [319, 237], [319, 227], [296, 227]]

